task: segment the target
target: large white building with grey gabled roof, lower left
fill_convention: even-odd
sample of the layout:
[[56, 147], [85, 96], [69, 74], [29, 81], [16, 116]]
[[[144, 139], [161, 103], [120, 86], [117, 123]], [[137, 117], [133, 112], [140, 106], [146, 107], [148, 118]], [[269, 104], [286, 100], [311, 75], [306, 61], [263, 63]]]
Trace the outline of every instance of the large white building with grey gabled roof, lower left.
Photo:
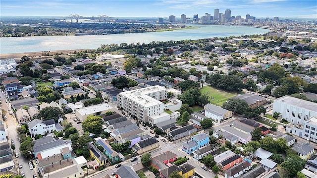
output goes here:
[[65, 147], [71, 152], [73, 150], [71, 144], [71, 140], [56, 140], [52, 136], [37, 139], [33, 145], [34, 158], [42, 160], [53, 155], [61, 154], [61, 150]]

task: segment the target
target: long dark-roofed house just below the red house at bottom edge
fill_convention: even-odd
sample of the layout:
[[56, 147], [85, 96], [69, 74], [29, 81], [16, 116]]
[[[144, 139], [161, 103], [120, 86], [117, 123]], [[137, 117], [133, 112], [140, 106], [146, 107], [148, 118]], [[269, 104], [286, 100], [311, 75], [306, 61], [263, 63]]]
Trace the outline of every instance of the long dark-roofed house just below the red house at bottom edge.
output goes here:
[[238, 178], [250, 169], [251, 164], [248, 161], [243, 161], [224, 171], [224, 178]]

